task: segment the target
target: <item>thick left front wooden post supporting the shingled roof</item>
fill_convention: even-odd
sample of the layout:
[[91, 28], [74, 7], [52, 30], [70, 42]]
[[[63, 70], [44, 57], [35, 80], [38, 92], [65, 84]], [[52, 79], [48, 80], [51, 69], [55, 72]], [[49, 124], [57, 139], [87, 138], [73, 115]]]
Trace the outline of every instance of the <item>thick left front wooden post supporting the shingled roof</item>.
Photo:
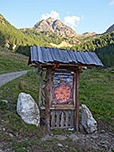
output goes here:
[[47, 132], [50, 132], [50, 106], [52, 100], [52, 68], [47, 67], [45, 84], [45, 126]]

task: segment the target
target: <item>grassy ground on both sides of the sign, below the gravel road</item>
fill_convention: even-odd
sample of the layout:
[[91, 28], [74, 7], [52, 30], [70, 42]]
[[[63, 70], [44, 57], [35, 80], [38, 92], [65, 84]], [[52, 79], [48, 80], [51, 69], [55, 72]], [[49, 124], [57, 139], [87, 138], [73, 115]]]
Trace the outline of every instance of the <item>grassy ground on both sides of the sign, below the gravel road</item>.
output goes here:
[[[107, 127], [114, 131], [114, 78], [111, 70], [112, 68], [107, 71], [84, 70], [80, 75], [79, 98], [80, 105], [86, 104], [89, 107], [94, 118], [101, 124], [101, 128]], [[86, 151], [87, 147], [80, 148], [77, 143], [70, 140], [41, 141], [45, 135], [44, 125], [40, 128], [28, 125], [17, 115], [16, 104], [20, 92], [29, 93], [38, 103], [38, 78], [37, 71], [31, 71], [0, 87], [0, 125], [6, 129], [5, 132], [0, 132], [0, 143], [5, 142], [6, 147], [9, 146], [11, 151], [16, 152], [36, 151], [36, 149], [42, 152]], [[2, 100], [7, 100], [8, 104]], [[13, 137], [10, 137], [9, 133], [13, 134]], [[67, 130], [54, 130], [52, 133], [69, 134]], [[59, 147], [58, 143], [63, 147]]]

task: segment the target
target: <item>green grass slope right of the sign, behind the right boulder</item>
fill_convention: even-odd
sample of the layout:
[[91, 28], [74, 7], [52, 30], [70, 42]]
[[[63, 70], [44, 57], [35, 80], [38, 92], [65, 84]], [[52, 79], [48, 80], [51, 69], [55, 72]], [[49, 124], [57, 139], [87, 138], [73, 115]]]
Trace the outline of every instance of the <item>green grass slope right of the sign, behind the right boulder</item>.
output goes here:
[[80, 103], [86, 104], [97, 121], [114, 124], [114, 74], [89, 70], [80, 77]]

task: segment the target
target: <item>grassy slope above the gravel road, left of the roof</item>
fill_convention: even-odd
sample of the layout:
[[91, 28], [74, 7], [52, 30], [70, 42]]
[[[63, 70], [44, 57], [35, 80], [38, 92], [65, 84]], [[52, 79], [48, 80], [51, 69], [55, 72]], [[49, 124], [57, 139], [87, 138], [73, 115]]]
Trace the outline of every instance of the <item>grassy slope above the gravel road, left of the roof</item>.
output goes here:
[[0, 47], [0, 74], [28, 69], [28, 57]]

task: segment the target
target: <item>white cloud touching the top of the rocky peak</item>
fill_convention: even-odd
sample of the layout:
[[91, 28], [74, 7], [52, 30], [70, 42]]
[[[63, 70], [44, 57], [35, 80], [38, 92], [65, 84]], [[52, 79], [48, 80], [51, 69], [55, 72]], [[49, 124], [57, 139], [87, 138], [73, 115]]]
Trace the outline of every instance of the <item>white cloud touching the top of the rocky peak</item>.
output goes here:
[[41, 19], [47, 19], [49, 17], [52, 17], [54, 19], [60, 19], [60, 15], [56, 11], [51, 11], [51, 13], [42, 14]]

